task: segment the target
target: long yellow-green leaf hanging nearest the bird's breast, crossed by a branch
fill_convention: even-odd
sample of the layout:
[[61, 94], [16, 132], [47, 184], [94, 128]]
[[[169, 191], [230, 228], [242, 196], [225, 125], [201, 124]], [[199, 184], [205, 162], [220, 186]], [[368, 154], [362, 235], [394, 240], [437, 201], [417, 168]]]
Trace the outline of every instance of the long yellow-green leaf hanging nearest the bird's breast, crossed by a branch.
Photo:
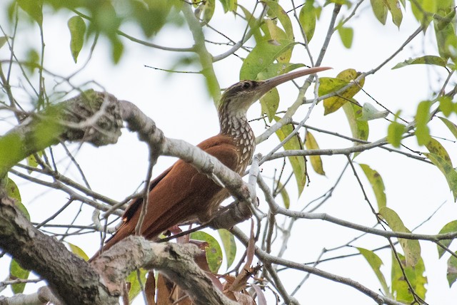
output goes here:
[[[280, 118], [275, 117], [275, 120], [280, 120]], [[282, 142], [288, 135], [293, 131], [292, 125], [284, 125], [281, 129], [276, 130], [276, 135], [279, 140]], [[283, 145], [284, 150], [301, 150], [303, 145], [301, 140], [298, 137], [293, 137], [291, 140], [288, 140], [287, 143]], [[289, 162], [291, 162], [293, 175], [298, 187], [298, 195], [301, 195], [303, 188], [306, 184], [306, 162], [303, 156], [291, 156], [288, 157]]]

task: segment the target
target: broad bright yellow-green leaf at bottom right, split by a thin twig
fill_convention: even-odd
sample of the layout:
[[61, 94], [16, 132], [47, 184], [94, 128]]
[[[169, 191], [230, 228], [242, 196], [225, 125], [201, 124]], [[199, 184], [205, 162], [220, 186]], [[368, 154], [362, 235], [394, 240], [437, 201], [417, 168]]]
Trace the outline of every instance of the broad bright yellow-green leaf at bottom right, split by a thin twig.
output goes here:
[[[411, 289], [406, 282], [405, 276], [401, 270], [401, 267], [398, 265], [398, 262], [392, 252], [392, 272], [391, 272], [391, 281], [392, 281], [392, 291], [391, 295], [396, 296], [396, 301], [406, 303], [406, 304], [413, 304], [414, 303], [414, 296], [411, 294]], [[414, 267], [404, 267], [405, 266], [405, 257], [398, 253], [398, 257], [400, 258], [403, 270], [408, 277], [408, 281], [413, 286], [414, 292], [421, 298], [425, 299], [426, 296], [426, 284], [427, 284], [427, 277], [423, 276], [426, 272], [426, 268], [423, 264], [422, 258], [418, 259], [416, 266]]]

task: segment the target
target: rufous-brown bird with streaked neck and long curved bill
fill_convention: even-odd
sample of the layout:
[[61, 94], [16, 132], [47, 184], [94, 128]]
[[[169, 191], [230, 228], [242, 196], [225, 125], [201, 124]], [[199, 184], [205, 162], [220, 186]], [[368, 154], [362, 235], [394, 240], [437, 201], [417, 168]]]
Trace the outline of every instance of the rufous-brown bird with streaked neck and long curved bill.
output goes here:
[[[328, 67], [313, 67], [284, 73], [264, 81], [243, 80], [227, 88], [218, 105], [220, 132], [204, 140], [198, 148], [213, 155], [238, 174], [246, 170], [253, 157], [256, 139], [246, 113], [256, 100], [271, 89], [300, 76], [317, 73]], [[139, 229], [146, 239], [156, 239], [176, 224], [198, 219], [209, 222], [229, 192], [191, 164], [178, 160], [149, 185], [147, 210]], [[135, 234], [143, 198], [131, 201], [115, 234], [106, 241], [102, 251], [109, 249], [129, 235]]]

